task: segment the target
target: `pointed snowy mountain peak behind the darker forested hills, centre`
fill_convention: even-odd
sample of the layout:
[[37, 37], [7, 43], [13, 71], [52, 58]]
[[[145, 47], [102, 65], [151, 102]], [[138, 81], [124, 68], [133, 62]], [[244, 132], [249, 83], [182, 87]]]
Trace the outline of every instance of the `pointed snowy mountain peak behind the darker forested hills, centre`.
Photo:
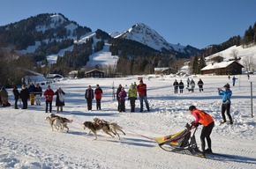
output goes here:
[[[115, 34], [115, 33], [114, 33]], [[165, 40], [159, 33], [154, 29], [145, 24], [139, 23], [132, 26], [124, 33], [120, 33], [114, 38], [124, 38], [127, 40], [135, 40], [148, 47], [154, 48], [155, 50], [162, 51], [163, 48], [170, 51], [180, 52], [184, 54], [198, 53], [200, 50], [192, 48], [191, 46], [182, 46], [180, 44], [171, 44]]]

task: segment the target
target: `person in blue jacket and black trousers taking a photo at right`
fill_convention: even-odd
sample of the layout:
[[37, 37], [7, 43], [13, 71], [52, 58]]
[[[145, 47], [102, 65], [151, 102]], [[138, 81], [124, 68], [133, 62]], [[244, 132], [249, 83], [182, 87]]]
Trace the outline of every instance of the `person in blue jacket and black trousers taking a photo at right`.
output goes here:
[[222, 96], [222, 123], [226, 122], [226, 116], [225, 112], [227, 112], [227, 115], [229, 116], [230, 119], [230, 124], [233, 124], [232, 117], [230, 115], [230, 105], [231, 105], [231, 95], [232, 91], [230, 91], [230, 84], [225, 84], [224, 86], [225, 90], [222, 90], [221, 88], [218, 88], [219, 95]]

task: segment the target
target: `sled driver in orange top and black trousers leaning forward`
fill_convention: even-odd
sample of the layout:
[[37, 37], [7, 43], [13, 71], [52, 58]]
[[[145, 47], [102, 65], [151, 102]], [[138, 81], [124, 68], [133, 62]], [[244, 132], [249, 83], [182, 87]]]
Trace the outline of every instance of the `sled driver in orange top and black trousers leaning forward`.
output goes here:
[[[199, 124], [203, 125], [203, 129], [201, 130], [200, 141], [201, 141], [201, 149], [202, 149], [202, 157], [205, 157], [206, 153], [213, 153], [212, 151], [212, 140], [211, 140], [211, 133], [215, 127], [215, 121], [210, 114], [205, 113], [197, 109], [195, 106], [189, 107], [189, 112], [195, 118], [195, 121], [192, 121], [192, 127], [198, 127]], [[206, 141], [208, 149], [206, 150]]]

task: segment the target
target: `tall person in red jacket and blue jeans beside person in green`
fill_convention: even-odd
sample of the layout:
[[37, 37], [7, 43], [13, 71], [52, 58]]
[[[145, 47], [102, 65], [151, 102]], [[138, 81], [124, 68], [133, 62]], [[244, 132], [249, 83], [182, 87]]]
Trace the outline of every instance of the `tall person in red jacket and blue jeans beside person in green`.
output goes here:
[[140, 80], [137, 85], [137, 92], [139, 93], [140, 112], [143, 111], [143, 100], [145, 101], [147, 111], [149, 112], [150, 110], [147, 102], [147, 84], [143, 84], [142, 80]]

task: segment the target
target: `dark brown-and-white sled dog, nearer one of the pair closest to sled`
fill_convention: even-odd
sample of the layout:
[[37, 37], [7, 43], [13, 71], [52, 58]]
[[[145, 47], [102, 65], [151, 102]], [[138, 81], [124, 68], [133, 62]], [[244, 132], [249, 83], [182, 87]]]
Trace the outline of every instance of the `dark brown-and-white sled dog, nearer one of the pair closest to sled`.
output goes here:
[[[109, 129], [109, 125], [106, 124], [106, 123], [99, 123], [98, 124], [96, 122], [85, 121], [84, 122], [84, 129], [86, 129], [86, 128], [89, 129], [89, 132], [87, 133], [87, 135], [89, 135], [91, 132], [94, 133], [94, 136], [95, 136], [94, 140], [97, 139], [97, 131], [99, 131], [101, 129], [104, 133], [106, 133], [109, 136], [112, 136], [110, 134], [110, 132], [113, 133], [114, 135], [116, 135], [111, 129]], [[114, 137], [114, 136], [112, 136], [112, 137]]]

